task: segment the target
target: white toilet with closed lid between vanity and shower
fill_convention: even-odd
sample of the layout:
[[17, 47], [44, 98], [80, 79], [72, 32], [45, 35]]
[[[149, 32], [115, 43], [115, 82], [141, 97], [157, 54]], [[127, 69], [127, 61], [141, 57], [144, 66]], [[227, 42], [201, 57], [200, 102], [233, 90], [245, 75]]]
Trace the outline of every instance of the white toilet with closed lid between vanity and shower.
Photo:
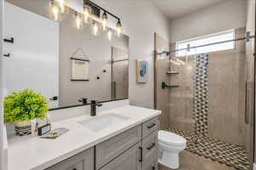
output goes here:
[[187, 141], [176, 133], [160, 130], [158, 133], [159, 157], [158, 162], [177, 169], [179, 167], [178, 154], [187, 146]]

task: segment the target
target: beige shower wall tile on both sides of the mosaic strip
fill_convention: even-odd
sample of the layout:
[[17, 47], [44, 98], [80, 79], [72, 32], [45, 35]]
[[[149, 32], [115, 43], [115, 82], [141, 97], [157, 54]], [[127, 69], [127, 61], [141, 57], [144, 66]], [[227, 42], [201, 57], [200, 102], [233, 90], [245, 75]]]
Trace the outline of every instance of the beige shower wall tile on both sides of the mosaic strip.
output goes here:
[[[245, 29], [236, 29], [236, 37]], [[171, 49], [175, 44], [171, 44]], [[185, 57], [180, 58], [183, 61]], [[245, 144], [245, 42], [236, 42], [236, 49], [209, 54], [209, 110], [208, 136], [231, 144]], [[170, 84], [178, 85], [170, 91], [170, 127], [194, 132], [192, 77], [195, 56], [188, 57], [188, 65], [173, 65]]]

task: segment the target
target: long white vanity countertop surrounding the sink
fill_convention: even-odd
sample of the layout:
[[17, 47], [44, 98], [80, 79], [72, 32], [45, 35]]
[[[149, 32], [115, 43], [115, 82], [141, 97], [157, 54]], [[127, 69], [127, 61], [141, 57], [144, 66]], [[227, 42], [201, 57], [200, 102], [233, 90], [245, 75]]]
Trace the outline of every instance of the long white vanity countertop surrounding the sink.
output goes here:
[[69, 129], [69, 132], [58, 139], [39, 139], [32, 136], [9, 137], [9, 170], [43, 170], [51, 167], [154, 116], [159, 116], [161, 111], [128, 105], [98, 112], [97, 116], [110, 113], [126, 116], [129, 119], [116, 126], [104, 128], [102, 131], [92, 132], [80, 125], [79, 121], [93, 117], [90, 115], [77, 116], [52, 123], [52, 129], [57, 127]]

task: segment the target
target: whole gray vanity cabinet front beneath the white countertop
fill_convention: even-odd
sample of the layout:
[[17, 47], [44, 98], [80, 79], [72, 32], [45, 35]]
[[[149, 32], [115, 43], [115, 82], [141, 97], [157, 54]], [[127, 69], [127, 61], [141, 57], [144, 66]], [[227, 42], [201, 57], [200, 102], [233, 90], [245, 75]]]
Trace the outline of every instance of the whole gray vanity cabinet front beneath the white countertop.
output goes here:
[[45, 170], [158, 170], [158, 128], [153, 118]]

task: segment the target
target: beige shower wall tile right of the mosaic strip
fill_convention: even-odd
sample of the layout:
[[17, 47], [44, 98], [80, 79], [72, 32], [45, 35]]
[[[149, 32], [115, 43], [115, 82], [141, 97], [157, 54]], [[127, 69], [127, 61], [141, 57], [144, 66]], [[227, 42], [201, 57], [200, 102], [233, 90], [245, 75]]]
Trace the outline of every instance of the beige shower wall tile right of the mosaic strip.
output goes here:
[[[244, 37], [237, 29], [236, 37]], [[245, 42], [234, 50], [209, 54], [208, 136], [230, 144], [245, 144]]]

